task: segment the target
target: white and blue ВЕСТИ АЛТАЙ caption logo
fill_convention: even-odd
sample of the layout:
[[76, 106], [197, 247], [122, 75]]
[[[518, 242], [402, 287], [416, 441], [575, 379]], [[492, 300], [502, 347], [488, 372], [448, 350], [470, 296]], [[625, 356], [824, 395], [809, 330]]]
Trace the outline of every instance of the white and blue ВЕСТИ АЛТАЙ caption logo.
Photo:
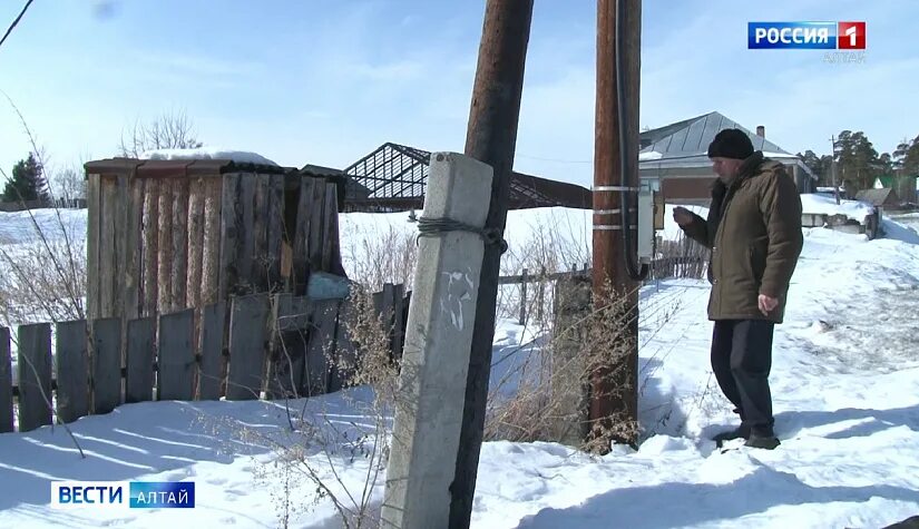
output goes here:
[[194, 509], [194, 481], [52, 481], [56, 509]]

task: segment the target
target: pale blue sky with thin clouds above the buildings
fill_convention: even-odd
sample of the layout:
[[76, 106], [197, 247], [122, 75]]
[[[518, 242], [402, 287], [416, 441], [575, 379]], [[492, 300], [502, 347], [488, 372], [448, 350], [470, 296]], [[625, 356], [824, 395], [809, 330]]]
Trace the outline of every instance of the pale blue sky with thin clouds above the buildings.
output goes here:
[[[2, 30], [22, 2], [0, 2]], [[36, 0], [0, 47], [0, 89], [61, 167], [109, 157], [170, 110], [202, 140], [344, 167], [385, 141], [461, 151], [483, 0]], [[751, 20], [864, 20], [863, 63], [747, 50]], [[791, 151], [863, 130], [919, 135], [913, 0], [645, 0], [643, 127], [711, 110]], [[589, 185], [596, 1], [536, 0], [518, 170]], [[0, 98], [0, 166], [28, 140]]]

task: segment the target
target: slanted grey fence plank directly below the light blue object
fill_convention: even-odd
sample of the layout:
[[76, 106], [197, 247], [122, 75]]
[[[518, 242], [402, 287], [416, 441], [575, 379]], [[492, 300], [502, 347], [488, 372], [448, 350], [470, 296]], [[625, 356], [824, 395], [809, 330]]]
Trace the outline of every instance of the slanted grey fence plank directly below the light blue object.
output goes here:
[[339, 300], [321, 300], [312, 303], [302, 395], [321, 395], [329, 392], [332, 360], [335, 356], [335, 321], [340, 303]]

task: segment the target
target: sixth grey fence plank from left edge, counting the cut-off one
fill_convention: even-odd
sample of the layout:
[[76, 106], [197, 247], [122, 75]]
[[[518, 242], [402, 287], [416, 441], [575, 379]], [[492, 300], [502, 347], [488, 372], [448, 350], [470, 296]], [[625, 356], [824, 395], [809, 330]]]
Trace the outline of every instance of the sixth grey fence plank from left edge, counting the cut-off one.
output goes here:
[[194, 308], [159, 316], [158, 401], [190, 401], [195, 396], [194, 319]]

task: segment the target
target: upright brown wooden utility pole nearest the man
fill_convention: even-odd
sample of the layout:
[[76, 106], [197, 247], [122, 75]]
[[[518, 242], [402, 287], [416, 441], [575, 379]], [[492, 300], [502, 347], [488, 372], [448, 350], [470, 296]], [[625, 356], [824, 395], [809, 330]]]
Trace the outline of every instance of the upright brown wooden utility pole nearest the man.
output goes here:
[[[633, 229], [635, 217], [628, 212], [629, 226], [623, 226], [623, 208], [635, 207], [635, 200], [624, 200], [635, 196], [638, 186], [638, 97], [641, 72], [641, 0], [618, 0], [625, 2], [623, 20], [617, 20], [617, 0], [597, 1], [597, 96], [596, 129], [594, 144], [594, 296], [600, 301], [609, 295], [607, 285], [617, 295], [624, 296], [627, 311], [614, 321], [623, 329], [613, 330], [620, 343], [613, 344], [624, 354], [612, 365], [593, 373], [590, 381], [590, 406], [588, 419], [595, 432], [600, 434], [597, 444], [600, 452], [608, 451], [607, 441], [634, 444], [637, 430], [637, 370], [638, 370], [638, 319], [637, 283], [630, 277], [626, 265], [627, 253], [623, 229]], [[622, 63], [616, 61], [617, 22], [623, 29]], [[622, 71], [617, 71], [620, 68]], [[623, 86], [617, 86], [617, 74]], [[624, 91], [625, 107], [619, 106], [619, 90]], [[619, 127], [620, 112], [625, 112], [624, 128]], [[620, 135], [625, 138], [625, 151], [620, 148]], [[624, 157], [624, 158], [623, 158]], [[626, 167], [626, 183], [623, 185], [623, 160]], [[636, 234], [637, 235], [637, 234]], [[634, 237], [633, 237], [634, 239]], [[633, 259], [637, 261], [637, 257]], [[596, 307], [595, 307], [596, 308]], [[613, 429], [613, 422], [626, 428]], [[616, 433], [612, 433], [616, 432]]]

